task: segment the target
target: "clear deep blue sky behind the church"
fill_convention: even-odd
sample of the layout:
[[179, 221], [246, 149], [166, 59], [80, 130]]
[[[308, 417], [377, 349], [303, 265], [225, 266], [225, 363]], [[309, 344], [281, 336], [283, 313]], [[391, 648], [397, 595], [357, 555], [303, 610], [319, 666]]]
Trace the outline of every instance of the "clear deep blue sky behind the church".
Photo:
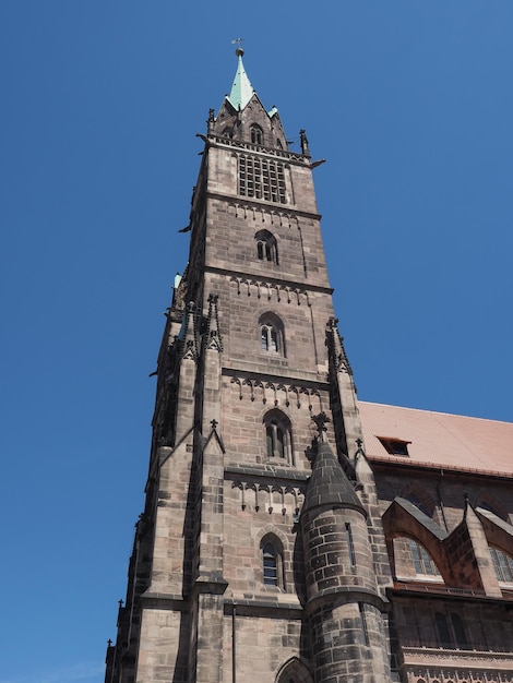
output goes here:
[[0, 2], [0, 683], [103, 681], [232, 38], [327, 159], [360, 398], [513, 420], [512, 26], [511, 0]]

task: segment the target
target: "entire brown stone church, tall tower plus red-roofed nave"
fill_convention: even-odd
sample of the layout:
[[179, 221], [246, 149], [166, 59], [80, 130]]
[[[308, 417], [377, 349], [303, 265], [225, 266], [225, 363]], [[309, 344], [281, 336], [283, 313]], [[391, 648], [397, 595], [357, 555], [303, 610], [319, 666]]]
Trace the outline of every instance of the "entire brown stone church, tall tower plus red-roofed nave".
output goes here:
[[201, 137], [106, 683], [512, 683], [513, 424], [357, 400], [308, 140]]

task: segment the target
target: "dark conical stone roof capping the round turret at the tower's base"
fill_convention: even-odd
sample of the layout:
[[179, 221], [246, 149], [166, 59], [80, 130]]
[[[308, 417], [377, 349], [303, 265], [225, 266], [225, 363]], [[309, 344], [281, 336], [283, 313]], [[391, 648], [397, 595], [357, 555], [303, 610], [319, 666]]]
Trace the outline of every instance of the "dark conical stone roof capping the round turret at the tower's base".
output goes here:
[[302, 511], [318, 506], [357, 507], [365, 511], [351, 482], [326, 441], [318, 446]]

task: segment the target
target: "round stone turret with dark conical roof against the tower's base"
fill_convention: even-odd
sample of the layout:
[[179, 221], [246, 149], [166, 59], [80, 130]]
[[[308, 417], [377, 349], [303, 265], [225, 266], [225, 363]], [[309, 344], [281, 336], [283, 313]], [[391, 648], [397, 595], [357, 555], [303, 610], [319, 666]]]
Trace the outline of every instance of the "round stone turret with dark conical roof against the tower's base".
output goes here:
[[300, 524], [315, 683], [390, 681], [367, 512], [321, 431]]

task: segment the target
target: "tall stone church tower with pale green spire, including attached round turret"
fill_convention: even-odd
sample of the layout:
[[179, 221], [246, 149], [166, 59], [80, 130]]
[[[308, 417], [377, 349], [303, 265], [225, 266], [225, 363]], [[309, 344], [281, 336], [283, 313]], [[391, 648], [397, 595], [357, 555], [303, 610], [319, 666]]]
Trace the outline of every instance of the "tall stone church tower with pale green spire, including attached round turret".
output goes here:
[[312, 163], [237, 50], [158, 356], [108, 683], [387, 683], [391, 585]]

